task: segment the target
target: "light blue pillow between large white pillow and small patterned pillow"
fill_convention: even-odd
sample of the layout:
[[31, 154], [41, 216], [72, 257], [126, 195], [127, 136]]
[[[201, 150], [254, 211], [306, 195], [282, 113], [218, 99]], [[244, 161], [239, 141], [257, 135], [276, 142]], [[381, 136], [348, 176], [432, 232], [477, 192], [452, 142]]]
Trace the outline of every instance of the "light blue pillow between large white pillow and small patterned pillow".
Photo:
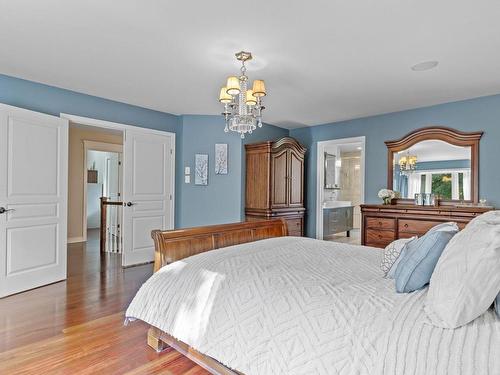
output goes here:
[[457, 224], [443, 223], [406, 244], [394, 274], [396, 292], [409, 293], [426, 286], [441, 253], [458, 231]]

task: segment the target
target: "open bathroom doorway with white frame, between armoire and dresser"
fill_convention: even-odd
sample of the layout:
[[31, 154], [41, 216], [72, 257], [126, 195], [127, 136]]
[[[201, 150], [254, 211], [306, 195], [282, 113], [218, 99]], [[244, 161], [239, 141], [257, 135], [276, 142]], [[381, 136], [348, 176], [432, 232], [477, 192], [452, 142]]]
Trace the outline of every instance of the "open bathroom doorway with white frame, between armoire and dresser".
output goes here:
[[365, 137], [318, 142], [316, 238], [360, 244]]

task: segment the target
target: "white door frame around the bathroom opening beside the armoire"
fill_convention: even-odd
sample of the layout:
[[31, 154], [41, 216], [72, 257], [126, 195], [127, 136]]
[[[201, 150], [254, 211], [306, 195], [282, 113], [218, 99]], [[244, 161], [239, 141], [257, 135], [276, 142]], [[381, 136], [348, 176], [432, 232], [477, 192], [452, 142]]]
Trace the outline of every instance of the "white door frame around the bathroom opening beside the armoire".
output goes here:
[[325, 149], [328, 146], [346, 145], [351, 143], [361, 144], [361, 199], [360, 202], [365, 202], [365, 155], [366, 155], [366, 137], [351, 137], [329, 139], [327, 141], [316, 142], [316, 238], [323, 239], [323, 199], [324, 188], [323, 179], [325, 175]]

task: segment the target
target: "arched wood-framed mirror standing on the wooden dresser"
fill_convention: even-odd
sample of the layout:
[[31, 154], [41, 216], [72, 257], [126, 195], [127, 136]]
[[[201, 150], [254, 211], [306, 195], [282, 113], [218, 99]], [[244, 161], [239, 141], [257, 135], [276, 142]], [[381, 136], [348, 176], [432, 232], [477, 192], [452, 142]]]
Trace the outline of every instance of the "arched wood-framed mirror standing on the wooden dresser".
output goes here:
[[397, 141], [389, 150], [388, 187], [401, 201], [417, 193], [439, 195], [442, 202], [478, 202], [478, 152], [482, 132], [425, 128]]

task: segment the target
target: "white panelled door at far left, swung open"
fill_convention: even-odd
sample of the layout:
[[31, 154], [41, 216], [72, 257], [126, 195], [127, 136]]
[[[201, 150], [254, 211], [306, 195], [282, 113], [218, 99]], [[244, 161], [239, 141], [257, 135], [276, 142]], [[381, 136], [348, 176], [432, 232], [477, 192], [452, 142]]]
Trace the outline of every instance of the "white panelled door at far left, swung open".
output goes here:
[[66, 279], [68, 121], [0, 104], [0, 297]]

